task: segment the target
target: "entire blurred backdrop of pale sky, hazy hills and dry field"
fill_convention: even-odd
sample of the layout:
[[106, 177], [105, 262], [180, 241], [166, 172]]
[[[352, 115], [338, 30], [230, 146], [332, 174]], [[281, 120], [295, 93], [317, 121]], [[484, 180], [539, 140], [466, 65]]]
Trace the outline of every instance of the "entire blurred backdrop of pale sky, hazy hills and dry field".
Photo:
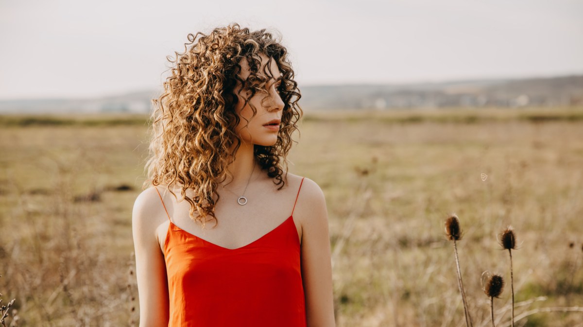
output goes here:
[[580, 0], [0, 1], [6, 325], [138, 325], [150, 100], [188, 33], [234, 22], [290, 52], [305, 115], [289, 169], [326, 195], [338, 326], [465, 324], [454, 212], [475, 326], [484, 270], [510, 283], [508, 225], [517, 324], [583, 326]]

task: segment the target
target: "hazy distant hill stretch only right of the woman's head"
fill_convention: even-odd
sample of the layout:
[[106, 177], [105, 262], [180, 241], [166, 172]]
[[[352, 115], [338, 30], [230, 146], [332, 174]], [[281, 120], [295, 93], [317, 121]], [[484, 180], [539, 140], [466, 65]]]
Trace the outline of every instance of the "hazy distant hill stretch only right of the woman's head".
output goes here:
[[577, 106], [583, 104], [583, 75], [413, 85], [312, 86], [302, 91], [303, 106], [320, 109]]

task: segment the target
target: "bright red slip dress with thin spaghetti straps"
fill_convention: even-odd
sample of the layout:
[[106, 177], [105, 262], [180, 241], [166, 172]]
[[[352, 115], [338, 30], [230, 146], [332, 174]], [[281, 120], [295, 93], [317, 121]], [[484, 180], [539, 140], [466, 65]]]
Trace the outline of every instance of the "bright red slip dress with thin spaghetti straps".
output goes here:
[[[168, 327], [306, 326], [300, 240], [293, 221], [303, 182], [291, 215], [240, 248], [196, 237], [172, 223], [166, 211]], [[164, 205], [161, 196], [160, 201]]]

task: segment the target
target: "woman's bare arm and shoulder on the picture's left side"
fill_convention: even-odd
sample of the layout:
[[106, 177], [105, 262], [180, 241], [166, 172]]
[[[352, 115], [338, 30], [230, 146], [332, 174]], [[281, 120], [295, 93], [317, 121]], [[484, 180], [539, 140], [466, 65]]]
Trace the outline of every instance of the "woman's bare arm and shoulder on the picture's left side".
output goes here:
[[140, 308], [139, 327], [168, 325], [166, 264], [156, 233], [157, 227], [164, 221], [160, 217], [166, 217], [160, 198], [153, 187], [146, 189], [136, 199], [132, 213]]

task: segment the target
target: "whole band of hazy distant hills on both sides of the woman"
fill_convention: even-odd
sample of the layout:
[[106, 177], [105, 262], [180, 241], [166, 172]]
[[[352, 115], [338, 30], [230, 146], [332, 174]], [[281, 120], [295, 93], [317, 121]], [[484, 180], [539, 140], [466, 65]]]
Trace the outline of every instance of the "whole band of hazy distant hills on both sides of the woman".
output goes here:
[[[322, 85], [300, 90], [304, 110], [578, 106], [583, 104], [583, 75], [410, 85]], [[150, 100], [157, 95], [156, 91], [144, 91], [83, 100], [0, 100], [0, 114], [146, 113]]]

